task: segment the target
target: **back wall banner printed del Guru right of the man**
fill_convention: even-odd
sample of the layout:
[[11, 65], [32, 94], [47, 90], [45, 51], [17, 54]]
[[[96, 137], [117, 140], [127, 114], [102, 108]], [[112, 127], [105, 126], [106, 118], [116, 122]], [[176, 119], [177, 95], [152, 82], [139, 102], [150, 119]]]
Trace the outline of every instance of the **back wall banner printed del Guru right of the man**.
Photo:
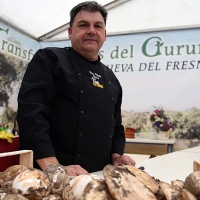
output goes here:
[[146, 137], [150, 115], [162, 107], [178, 121], [170, 137], [186, 139], [183, 146], [199, 145], [199, 35], [199, 29], [190, 29], [107, 37], [100, 56], [122, 85], [125, 127]]

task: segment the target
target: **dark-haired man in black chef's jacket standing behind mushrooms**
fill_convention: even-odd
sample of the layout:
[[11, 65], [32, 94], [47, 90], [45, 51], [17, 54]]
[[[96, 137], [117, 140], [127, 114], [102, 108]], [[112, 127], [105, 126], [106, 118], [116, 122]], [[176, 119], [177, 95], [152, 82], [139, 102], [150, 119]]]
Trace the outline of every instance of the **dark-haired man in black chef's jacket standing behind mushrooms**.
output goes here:
[[39, 50], [24, 75], [18, 96], [20, 149], [33, 150], [35, 167], [60, 163], [73, 176], [107, 164], [135, 165], [123, 155], [121, 86], [98, 56], [107, 12], [87, 1], [70, 16], [72, 48]]

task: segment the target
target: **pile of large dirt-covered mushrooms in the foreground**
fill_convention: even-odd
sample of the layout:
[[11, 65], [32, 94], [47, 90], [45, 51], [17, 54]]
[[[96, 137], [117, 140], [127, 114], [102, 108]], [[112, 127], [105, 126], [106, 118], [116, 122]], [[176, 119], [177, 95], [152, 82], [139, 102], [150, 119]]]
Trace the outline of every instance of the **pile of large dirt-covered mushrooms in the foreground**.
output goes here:
[[0, 173], [0, 200], [199, 200], [200, 171], [171, 184], [133, 166], [106, 165], [97, 175], [70, 177], [62, 165], [44, 171], [14, 165]]

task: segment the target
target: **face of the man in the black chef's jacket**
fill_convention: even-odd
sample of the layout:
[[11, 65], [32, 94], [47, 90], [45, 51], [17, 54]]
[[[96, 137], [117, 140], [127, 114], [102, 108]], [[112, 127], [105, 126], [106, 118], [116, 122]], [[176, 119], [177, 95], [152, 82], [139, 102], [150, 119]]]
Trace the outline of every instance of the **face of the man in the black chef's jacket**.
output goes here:
[[100, 12], [81, 10], [68, 29], [72, 47], [88, 60], [97, 60], [98, 52], [106, 40], [104, 19]]

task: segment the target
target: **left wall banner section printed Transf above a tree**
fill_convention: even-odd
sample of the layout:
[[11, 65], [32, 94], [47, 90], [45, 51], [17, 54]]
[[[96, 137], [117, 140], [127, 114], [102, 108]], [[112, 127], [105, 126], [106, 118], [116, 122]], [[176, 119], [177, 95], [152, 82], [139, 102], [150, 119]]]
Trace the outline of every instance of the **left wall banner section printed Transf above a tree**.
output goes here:
[[13, 128], [17, 95], [27, 64], [39, 43], [0, 22], [0, 124]]

